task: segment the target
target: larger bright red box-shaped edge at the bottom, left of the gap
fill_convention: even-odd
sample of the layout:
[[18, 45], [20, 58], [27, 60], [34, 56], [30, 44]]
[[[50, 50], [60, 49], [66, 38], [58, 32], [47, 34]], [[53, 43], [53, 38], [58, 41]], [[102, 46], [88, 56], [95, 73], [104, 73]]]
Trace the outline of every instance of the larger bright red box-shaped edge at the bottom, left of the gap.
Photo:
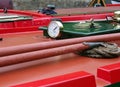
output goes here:
[[78, 71], [11, 87], [96, 87], [94, 75]]

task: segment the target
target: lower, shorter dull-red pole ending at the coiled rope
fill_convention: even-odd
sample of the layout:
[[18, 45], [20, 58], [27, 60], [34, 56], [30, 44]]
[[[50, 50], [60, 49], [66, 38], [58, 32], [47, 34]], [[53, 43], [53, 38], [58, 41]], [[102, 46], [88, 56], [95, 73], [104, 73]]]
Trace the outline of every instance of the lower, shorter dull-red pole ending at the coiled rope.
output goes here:
[[0, 67], [38, 60], [38, 59], [56, 56], [60, 54], [71, 53], [78, 50], [87, 49], [88, 47], [89, 46], [80, 43], [80, 44], [68, 45], [63, 47], [38, 50], [38, 51], [33, 51], [28, 53], [4, 56], [0, 58]]

